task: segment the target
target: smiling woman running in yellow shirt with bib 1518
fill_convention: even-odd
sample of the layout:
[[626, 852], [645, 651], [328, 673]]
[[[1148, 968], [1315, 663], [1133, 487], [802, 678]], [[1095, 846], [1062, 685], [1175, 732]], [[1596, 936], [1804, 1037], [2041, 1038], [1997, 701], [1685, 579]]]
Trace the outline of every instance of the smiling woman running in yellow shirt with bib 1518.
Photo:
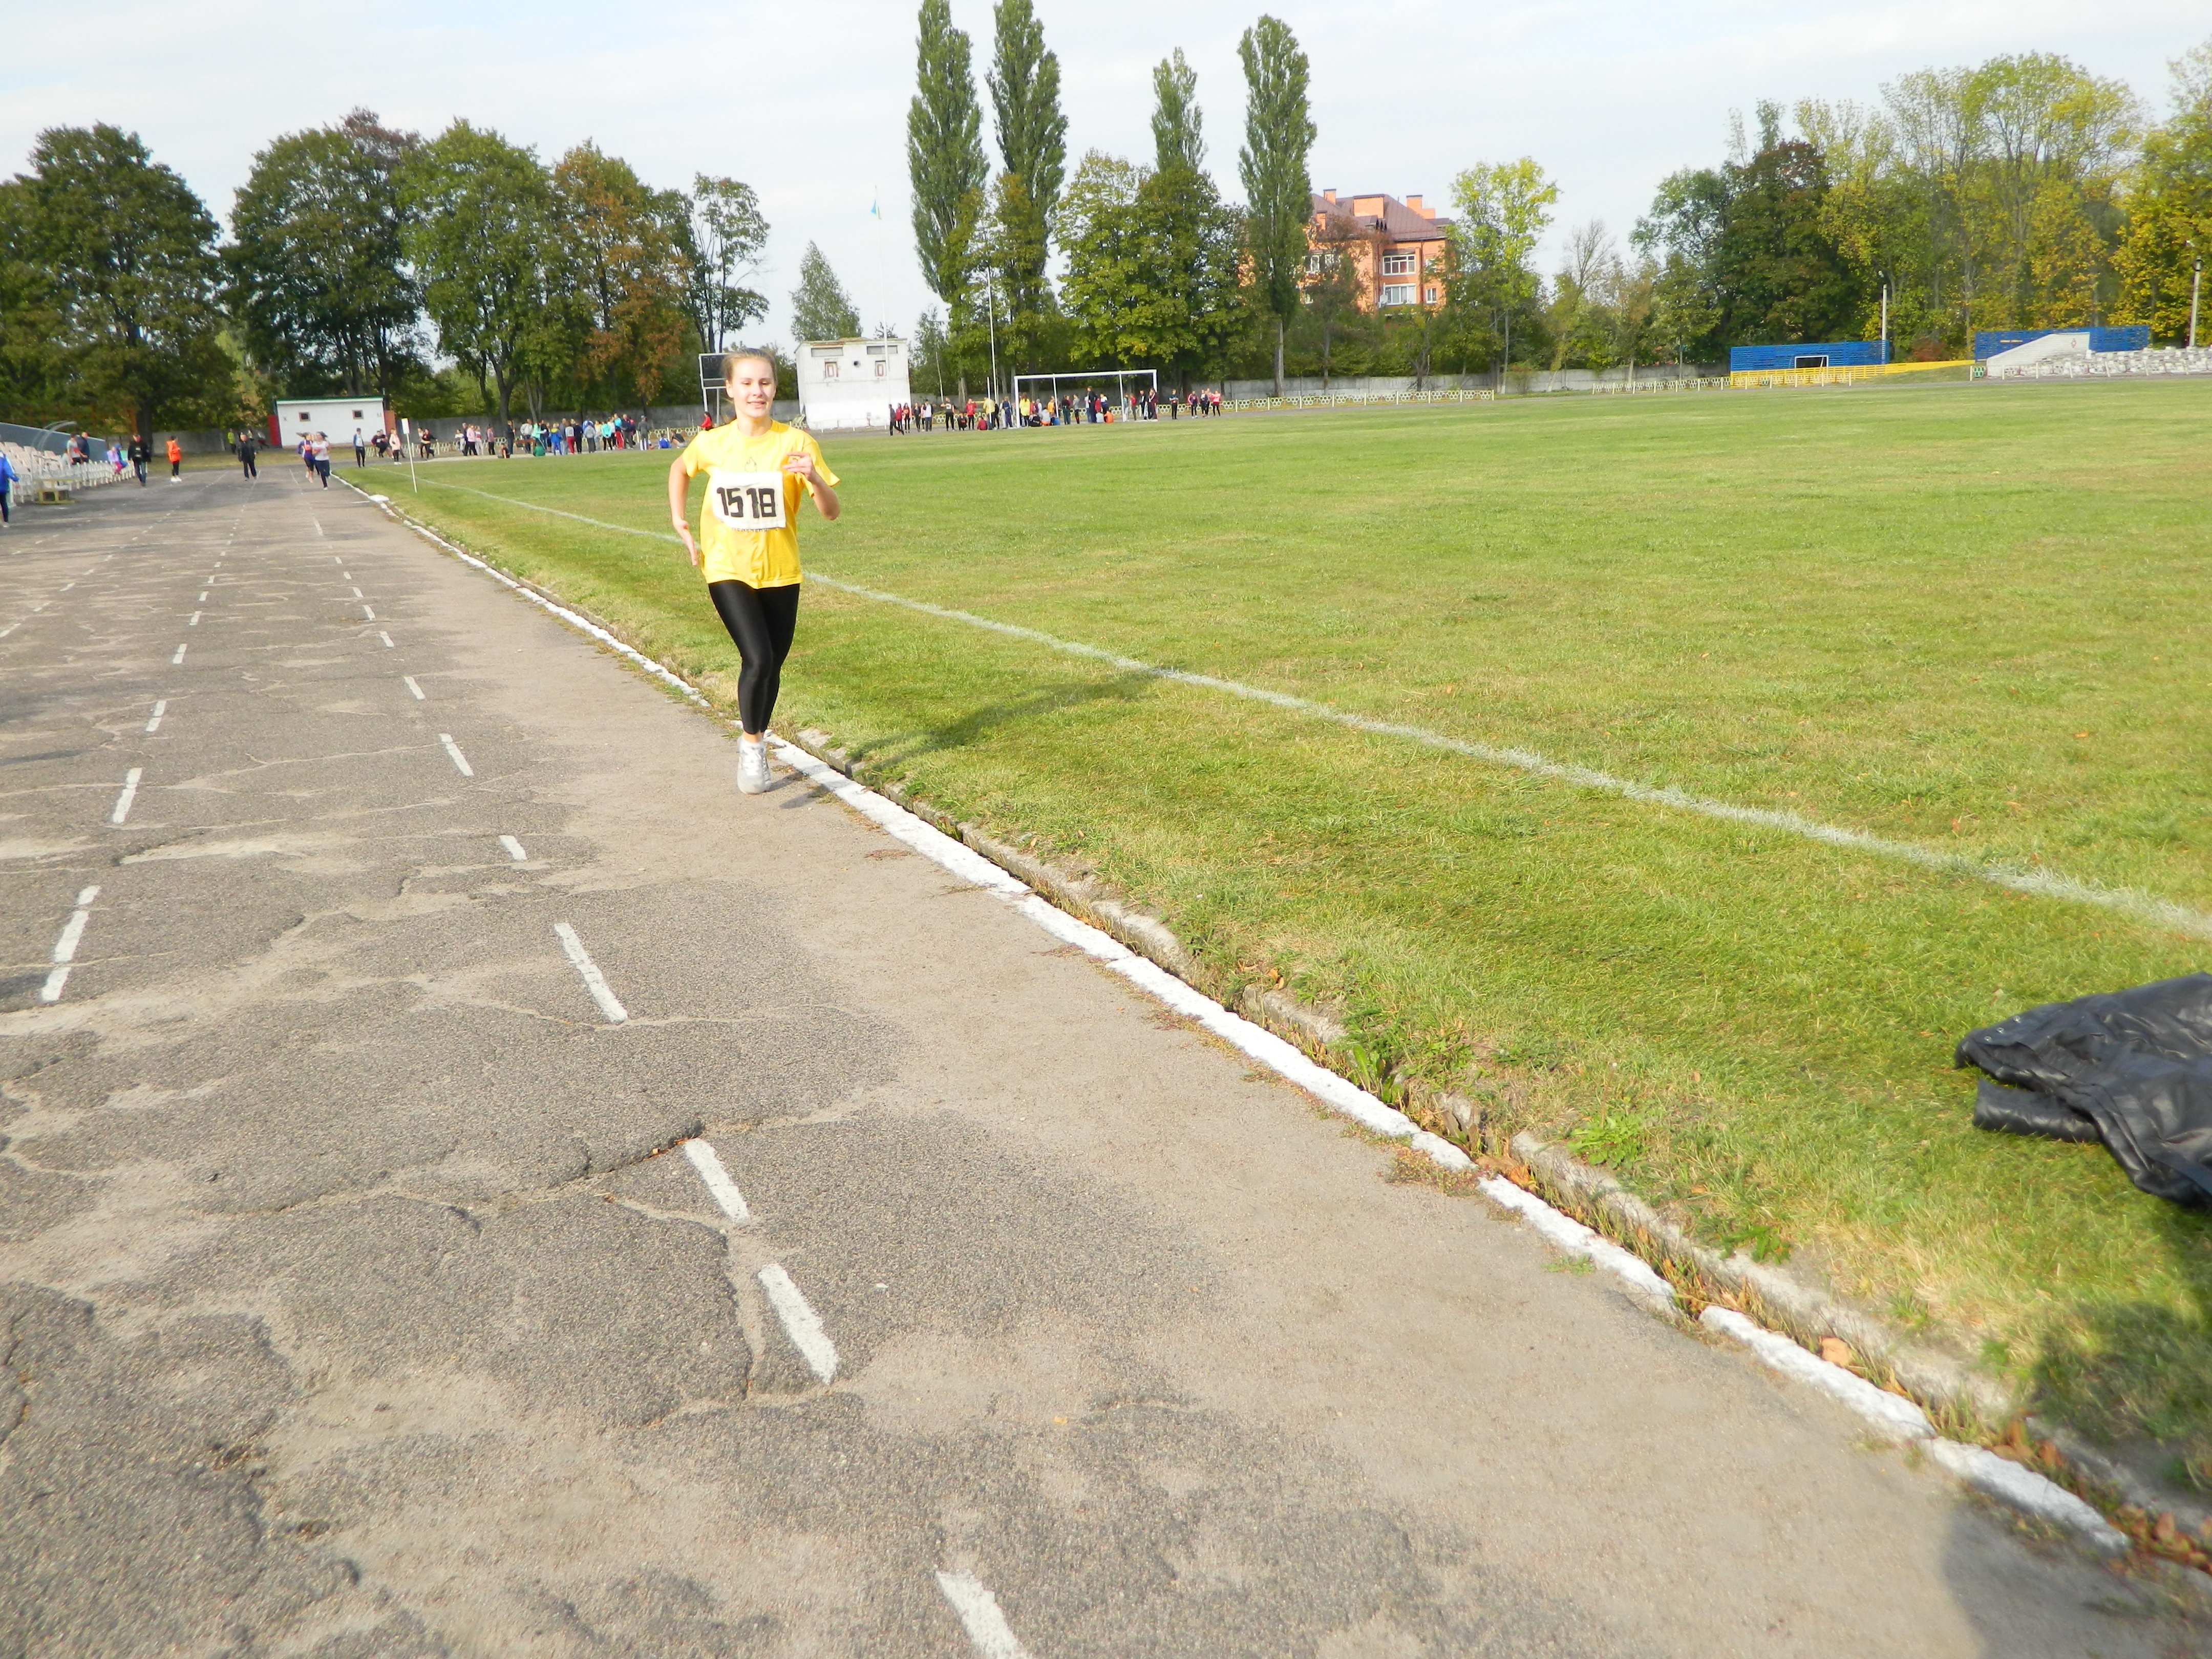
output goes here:
[[[836, 473], [812, 434], [774, 418], [776, 365], [730, 352], [721, 365], [732, 418], [701, 431], [668, 469], [668, 518], [706, 575], [708, 597], [737, 646], [737, 787], [768, 787], [768, 717], [799, 626], [799, 491], [823, 520], [838, 515]], [[699, 535], [686, 515], [690, 480], [706, 473]]]

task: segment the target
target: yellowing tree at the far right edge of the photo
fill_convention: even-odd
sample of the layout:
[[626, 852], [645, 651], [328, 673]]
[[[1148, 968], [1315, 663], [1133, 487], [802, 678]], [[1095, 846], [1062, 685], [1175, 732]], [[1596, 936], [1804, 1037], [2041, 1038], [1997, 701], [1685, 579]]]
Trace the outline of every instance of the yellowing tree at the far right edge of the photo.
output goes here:
[[[2212, 40], [2172, 62], [2174, 113], [2143, 139], [2117, 254], [2117, 319], [2185, 341], [2194, 263], [2212, 254]], [[2199, 343], [2212, 338], [2199, 319]]]

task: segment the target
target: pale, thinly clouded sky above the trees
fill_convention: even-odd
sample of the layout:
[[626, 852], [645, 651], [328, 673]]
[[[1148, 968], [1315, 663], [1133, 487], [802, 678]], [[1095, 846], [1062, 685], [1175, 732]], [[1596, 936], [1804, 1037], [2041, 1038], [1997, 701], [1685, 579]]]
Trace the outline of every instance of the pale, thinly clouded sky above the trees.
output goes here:
[[[1199, 75], [1208, 161], [1241, 197], [1237, 38], [1256, 7], [1217, 0], [1035, 0], [1060, 55], [1068, 170], [1084, 150], [1148, 157], [1152, 64]], [[546, 161], [593, 139], [655, 186], [745, 179], [772, 241], [752, 281], [790, 332], [799, 259], [818, 243], [869, 327], [933, 303], [914, 261], [905, 117], [909, 0], [799, 7], [465, 0], [305, 7], [272, 27], [232, 9], [108, 0], [22, 7], [0, 58], [0, 175], [42, 128], [137, 131], [228, 223], [254, 150], [354, 106], [436, 133], [493, 126]], [[1314, 188], [1447, 204], [1475, 161], [1531, 155], [1559, 186], [1548, 270], [1568, 226], [1626, 241], [1668, 173], [1721, 159], [1732, 108], [1761, 97], [1876, 102], [1931, 64], [2055, 51], [2117, 75], [2163, 113], [2168, 60], [2212, 35], [2203, 0], [1274, 0], [1312, 60]], [[991, 53], [989, 0], [953, 20]], [[989, 144], [989, 97], [984, 95]], [[880, 219], [872, 208], [880, 206]]]

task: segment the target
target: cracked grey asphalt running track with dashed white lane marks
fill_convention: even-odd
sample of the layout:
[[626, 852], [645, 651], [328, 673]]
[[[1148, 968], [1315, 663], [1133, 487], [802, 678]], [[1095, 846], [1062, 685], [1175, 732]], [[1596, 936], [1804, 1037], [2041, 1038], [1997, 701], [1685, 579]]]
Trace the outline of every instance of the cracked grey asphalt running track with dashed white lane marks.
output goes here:
[[349, 491], [0, 630], [0, 1655], [2188, 1646]]

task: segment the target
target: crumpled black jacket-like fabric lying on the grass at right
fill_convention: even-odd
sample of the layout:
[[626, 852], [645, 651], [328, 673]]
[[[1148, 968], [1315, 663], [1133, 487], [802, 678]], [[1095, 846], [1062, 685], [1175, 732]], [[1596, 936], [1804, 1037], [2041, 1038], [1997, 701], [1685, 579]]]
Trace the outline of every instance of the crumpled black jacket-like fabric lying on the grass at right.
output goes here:
[[2212, 1208], [2212, 973], [2046, 1002], [1969, 1033], [1955, 1062], [1995, 1079], [1978, 1128], [2099, 1139], [2143, 1192]]

